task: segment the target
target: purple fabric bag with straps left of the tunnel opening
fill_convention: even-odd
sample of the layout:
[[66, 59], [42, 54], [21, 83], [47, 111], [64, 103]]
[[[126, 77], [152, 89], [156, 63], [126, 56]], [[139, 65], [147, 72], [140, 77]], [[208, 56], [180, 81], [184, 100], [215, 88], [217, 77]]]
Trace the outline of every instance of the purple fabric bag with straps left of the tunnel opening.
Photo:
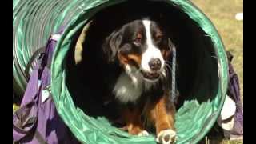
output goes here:
[[[62, 30], [54, 36], [60, 34]], [[42, 58], [30, 75], [21, 107], [13, 114], [14, 143], [79, 143], [59, 117], [50, 94], [50, 69], [47, 66], [56, 43], [54, 37], [47, 42]]]

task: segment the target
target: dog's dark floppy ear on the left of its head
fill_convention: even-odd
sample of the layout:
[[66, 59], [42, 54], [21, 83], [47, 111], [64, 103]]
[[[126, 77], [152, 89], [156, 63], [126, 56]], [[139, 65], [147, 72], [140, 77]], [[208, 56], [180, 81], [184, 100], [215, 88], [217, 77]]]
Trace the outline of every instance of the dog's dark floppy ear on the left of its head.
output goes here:
[[114, 62], [117, 58], [117, 53], [122, 42], [122, 34], [119, 31], [114, 31], [103, 45], [103, 53], [106, 55], [108, 62]]

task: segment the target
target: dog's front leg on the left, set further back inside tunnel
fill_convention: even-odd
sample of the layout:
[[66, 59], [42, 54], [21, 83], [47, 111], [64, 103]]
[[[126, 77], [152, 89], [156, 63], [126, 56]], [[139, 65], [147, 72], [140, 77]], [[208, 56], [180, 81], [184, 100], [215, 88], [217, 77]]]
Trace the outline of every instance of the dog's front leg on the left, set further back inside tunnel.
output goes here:
[[140, 136], [149, 135], [146, 130], [143, 130], [141, 112], [138, 108], [134, 108], [134, 110], [126, 108], [122, 112], [122, 118], [126, 122], [126, 126], [123, 128], [124, 130], [128, 130], [129, 134]]

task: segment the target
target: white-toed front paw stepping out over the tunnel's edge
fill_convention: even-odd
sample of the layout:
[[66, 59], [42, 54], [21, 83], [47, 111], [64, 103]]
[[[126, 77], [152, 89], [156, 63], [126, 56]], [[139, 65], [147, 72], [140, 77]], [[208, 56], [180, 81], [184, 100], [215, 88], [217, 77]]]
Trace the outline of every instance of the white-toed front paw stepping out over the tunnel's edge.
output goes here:
[[158, 137], [156, 138], [156, 141], [158, 143], [162, 144], [170, 144], [176, 142], [176, 132], [174, 130], [168, 129], [168, 130], [162, 130], [158, 134]]

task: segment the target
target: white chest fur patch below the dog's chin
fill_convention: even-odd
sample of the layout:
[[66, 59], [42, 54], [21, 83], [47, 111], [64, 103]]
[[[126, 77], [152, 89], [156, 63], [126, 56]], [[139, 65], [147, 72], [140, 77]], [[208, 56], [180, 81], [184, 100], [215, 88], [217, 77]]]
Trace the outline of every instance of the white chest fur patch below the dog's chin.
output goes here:
[[[134, 78], [135, 79], [132, 80], [125, 71], [120, 74], [113, 90], [115, 98], [120, 102], [136, 102], [142, 95], [142, 76], [134, 75]], [[134, 83], [134, 81], [136, 81], [136, 83]]]

